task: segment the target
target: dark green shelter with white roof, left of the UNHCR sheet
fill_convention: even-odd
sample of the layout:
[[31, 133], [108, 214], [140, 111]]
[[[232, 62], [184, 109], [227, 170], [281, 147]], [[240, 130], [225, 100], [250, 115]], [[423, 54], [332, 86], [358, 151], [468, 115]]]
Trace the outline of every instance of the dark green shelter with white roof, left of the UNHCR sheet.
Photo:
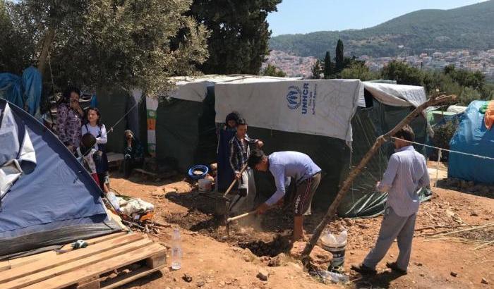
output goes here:
[[[176, 88], [159, 99], [156, 111], [156, 157], [185, 172], [194, 164], [216, 161], [215, 84], [284, 81], [255, 75], [204, 75], [171, 78]], [[293, 79], [292, 79], [293, 80]]]

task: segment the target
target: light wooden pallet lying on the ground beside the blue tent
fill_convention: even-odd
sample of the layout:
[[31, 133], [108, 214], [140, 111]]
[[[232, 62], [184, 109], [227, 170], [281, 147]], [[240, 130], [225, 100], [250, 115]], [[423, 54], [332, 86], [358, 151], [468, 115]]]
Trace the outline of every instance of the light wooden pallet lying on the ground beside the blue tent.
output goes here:
[[114, 233], [88, 247], [0, 262], [0, 289], [117, 288], [166, 266], [166, 248], [147, 235]]

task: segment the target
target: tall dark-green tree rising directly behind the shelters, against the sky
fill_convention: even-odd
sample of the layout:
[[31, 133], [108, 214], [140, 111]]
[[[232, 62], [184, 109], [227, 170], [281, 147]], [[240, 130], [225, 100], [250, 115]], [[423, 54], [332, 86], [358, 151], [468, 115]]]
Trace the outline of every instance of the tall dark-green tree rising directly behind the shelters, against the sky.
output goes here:
[[194, 0], [190, 15], [211, 31], [204, 73], [258, 74], [269, 54], [267, 13], [282, 0]]

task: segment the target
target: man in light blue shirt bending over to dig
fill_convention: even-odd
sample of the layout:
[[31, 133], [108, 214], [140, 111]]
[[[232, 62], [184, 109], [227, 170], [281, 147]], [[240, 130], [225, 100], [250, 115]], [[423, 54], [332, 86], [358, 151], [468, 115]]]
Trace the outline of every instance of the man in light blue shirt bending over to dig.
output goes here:
[[293, 241], [303, 240], [303, 216], [311, 214], [311, 203], [320, 181], [320, 171], [312, 159], [301, 152], [273, 152], [266, 156], [255, 149], [248, 158], [248, 166], [258, 171], [270, 171], [275, 177], [276, 192], [256, 209], [264, 214], [267, 209], [283, 202], [287, 178], [295, 181]]

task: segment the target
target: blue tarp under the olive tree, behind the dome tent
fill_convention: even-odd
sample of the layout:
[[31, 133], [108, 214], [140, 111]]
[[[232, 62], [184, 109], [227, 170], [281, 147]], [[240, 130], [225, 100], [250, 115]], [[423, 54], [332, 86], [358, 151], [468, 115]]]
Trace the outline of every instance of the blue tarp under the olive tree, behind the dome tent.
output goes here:
[[41, 74], [32, 66], [24, 70], [22, 77], [12, 73], [0, 73], [0, 98], [7, 99], [19, 107], [28, 106], [32, 116], [40, 107], [41, 92]]

